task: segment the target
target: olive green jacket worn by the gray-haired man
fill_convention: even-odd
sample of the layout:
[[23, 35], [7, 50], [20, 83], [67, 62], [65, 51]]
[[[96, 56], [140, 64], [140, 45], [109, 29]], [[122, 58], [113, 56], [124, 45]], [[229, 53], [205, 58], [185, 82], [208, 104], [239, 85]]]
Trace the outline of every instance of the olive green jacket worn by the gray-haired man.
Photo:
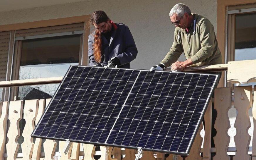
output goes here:
[[194, 20], [188, 34], [179, 27], [175, 28], [172, 47], [163, 61], [160, 62], [163, 63], [166, 68], [176, 62], [182, 52], [184, 52], [186, 59], [191, 59], [193, 62], [191, 66], [222, 63], [222, 56], [213, 25], [203, 16], [193, 13], [192, 15]]

